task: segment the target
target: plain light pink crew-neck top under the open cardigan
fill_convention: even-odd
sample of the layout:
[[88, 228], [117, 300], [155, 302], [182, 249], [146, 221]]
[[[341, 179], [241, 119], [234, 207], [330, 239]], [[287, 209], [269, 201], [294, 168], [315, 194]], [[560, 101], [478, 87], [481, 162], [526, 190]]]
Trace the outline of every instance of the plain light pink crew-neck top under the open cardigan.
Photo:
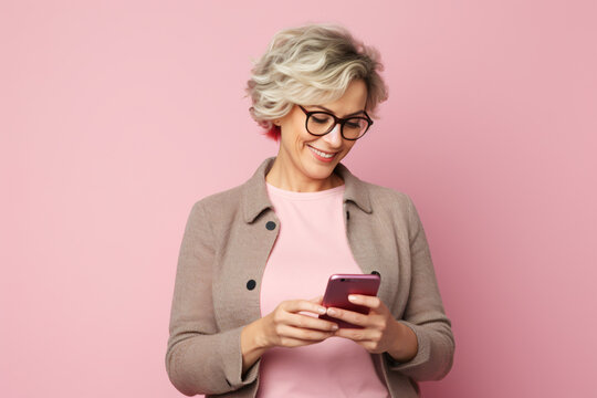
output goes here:
[[[280, 231], [261, 283], [262, 316], [284, 300], [323, 295], [333, 273], [363, 273], [346, 238], [344, 185], [317, 192], [266, 187]], [[389, 394], [365, 348], [331, 337], [303, 347], [269, 349], [261, 359], [258, 397], [388, 398]]]

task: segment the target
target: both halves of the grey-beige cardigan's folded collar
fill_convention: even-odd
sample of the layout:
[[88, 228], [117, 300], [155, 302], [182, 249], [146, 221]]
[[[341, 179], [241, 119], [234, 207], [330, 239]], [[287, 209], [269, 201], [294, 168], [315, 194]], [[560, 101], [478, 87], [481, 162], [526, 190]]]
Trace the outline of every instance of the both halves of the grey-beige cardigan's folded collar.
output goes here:
[[[268, 196], [265, 176], [272, 168], [274, 160], [275, 157], [263, 160], [253, 176], [242, 186], [241, 203], [245, 222], [253, 222], [263, 210], [273, 209]], [[342, 163], [336, 165], [334, 172], [344, 180], [344, 202], [352, 201], [366, 213], [370, 213], [373, 210], [366, 182], [359, 180]]]

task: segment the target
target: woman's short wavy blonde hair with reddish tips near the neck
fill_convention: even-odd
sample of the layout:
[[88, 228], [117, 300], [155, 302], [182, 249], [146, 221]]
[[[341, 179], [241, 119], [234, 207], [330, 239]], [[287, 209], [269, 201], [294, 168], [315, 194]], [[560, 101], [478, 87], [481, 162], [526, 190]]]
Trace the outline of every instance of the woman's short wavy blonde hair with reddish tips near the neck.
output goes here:
[[362, 78], [367, 86], [365, 111], [376, 116], [388, 98], [379, 52], [353, 38], [337, 24], [312, 23], [279, 31], [256, 62], [247, 83], [253, 119], [265, 134], [280, 139], [272, 122], [295, 104], [322, 105], [343, 96], [348, 84]]

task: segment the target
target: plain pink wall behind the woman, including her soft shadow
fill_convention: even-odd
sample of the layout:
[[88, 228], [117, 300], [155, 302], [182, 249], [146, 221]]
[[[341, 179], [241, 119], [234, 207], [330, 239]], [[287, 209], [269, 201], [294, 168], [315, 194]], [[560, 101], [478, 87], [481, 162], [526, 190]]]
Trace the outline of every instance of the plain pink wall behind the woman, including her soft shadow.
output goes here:
[[180, 396], [185, 222], [276, 154], [243, 88], [304, 22], [386, 64], [345, 164], [421, 214], [457, 339], [425, 396], [597, 396], [596, 4], [2, 1], [0, 396]]

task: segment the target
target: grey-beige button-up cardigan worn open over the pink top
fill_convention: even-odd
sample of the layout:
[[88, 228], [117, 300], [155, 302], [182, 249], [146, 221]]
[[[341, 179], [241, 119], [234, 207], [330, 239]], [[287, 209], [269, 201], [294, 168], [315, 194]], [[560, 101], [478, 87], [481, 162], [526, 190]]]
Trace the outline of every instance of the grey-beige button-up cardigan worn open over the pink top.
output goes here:
[[[265, 187], [274, 159], [190, 211], [166, 352], [168, 377], [187, 396], [256, 394], [260, 360], [241, 375], [240, 334], [260, 317], [261, 277], [280, 226]], [[376, 370], [391, 397], [417, 397], [417, 381], [443, 378], [454, 352], [419, 216], [407, 195], [362, 181], [342, 164], [334, 172], [345, 182], [346, 235], [356, 262], [363, 273], [381, 275], [378, 296], [418, 339], [418, 353], [407, 363], [373, 354]]]

